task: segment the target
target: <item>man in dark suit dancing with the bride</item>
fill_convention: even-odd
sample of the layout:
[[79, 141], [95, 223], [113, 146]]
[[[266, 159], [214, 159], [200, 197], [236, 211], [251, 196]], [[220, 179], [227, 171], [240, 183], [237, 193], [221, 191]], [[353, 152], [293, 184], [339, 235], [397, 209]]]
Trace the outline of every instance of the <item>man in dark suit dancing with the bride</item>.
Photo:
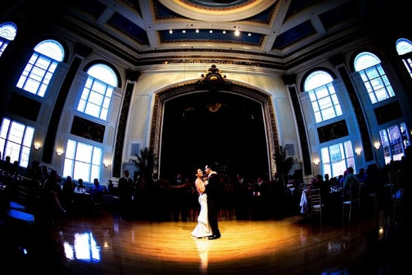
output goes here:
[[220, 181], [218, 173], [211, 170], [209, 165], [205, 166], [205, 174], [207, 175], [205, 190], [205, 193], [207, 194], [207, 217], [209, 218], [209, 224], [212, 232], [212, 235], [209, 236], [209, 240], [214, 240], [220, 238], [220, 230], [218, 227]]

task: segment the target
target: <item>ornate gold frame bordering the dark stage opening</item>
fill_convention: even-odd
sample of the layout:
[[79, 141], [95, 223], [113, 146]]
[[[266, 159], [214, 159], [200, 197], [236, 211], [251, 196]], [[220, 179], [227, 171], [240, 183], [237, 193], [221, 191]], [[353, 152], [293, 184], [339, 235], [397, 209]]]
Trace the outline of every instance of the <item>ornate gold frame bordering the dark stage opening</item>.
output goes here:
[[[250, 100], [255, 100], [260, 102], [262, 105], [264, 127], [266, 130], [266, 144], [268, 148], [268, 173], [273, 178], [276, 171], [275, 164], [275, 148], [279, 147], [279, 142], [277, 139], [277, 131], [275, 125], [275, 115], [273, 113], [273, 104], [270, 95], [266, 94], [264, 91], [255, 89], [254, 87], [245, 85], [244, 83], [238, 83], [236, 81], [231, 81], [231, 85], [225, 86], [225, 90], [218, 90], [217, 92], [231, 93], [239, 96], [244, 96]], [[198, 81], [192, 80], [186, 83], [179, 83], [175, 86], [168, 87], [155, 94], [155, 105], [153, 108], [152, 125], [150, 129], [150, 149], [152, 150], [156, 163], [154, 164], [154, 169], [160, 172], [161, 167], [159, 167], [160, 153], [161, 153], [161, 130], [163, 126], [163, 114], [165, 101], [179, 96], [202, 92], [204, 89], [199, 89]]]

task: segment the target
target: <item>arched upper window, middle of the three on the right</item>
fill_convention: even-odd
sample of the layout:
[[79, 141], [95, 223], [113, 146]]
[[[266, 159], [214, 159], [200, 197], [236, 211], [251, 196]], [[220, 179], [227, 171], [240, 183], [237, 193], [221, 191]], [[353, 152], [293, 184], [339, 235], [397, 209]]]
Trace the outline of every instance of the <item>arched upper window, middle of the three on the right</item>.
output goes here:
[[372, 104], [395, 96], [378, 56], [362, 52], [356, 56], [354, 66], [361, 74]]

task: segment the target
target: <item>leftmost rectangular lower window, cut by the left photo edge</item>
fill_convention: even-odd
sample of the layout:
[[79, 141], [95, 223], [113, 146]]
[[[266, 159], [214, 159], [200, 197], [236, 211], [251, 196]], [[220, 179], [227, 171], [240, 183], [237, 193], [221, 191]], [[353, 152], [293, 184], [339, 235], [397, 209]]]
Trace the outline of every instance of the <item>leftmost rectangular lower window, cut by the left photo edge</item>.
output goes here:
[[11, 162], [18, 161], [21, 167], [27, 167], [33, 136], [33, 127], [3, 118], [0, 129], [1, 159], [10, 156]]

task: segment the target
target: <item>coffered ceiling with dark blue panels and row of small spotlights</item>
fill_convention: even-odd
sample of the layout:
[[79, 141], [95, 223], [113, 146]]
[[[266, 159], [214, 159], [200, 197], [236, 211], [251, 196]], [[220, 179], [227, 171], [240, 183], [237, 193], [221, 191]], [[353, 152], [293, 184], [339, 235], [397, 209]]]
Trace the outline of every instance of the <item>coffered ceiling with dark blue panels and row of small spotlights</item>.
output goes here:
[[302, 63], [302, 56], [320, 56], [348, 37], [365, 36], [361, 23], [369, 5], [366, 0], [52, 2], [55, 17], [48, 19], [62, 36], [105, 50], [130, 69], [182, 58], [205, 59], [208, 65], [214, 59], [233, 64], [247, 59], [249, 65], [288, 69]]

